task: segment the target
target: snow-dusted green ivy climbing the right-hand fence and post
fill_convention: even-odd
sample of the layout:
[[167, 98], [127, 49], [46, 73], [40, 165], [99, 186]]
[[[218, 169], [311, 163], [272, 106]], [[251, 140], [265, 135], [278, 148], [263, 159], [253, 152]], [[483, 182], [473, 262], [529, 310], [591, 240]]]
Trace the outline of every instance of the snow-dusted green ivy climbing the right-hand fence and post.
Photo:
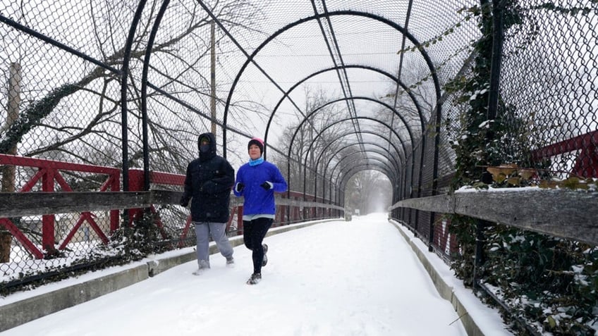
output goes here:
[[[580, 8], [544, 4], [522, 8], [518, 1], [503, 1], [504, 30], [525, 23], [532, 10], [553, 10], [564, 15], [587, 15]], [[525, 120], [516, 117], [516, 106], [499, 96], [496, 118], [488, 118], [489, 82], [492, 67], [492, 3], [463, 8], [479, 18], [482, 37], [473, 45], [475, 61], [468, 77], [448, 82], [444, 89], [455, 96], [453, 104], [466, 104], [460, 116], [461, 129], [452, 143], [456, 153], [456, 175], [451, 191], [465, 185], [477, 187], [568, 187], [596, 190], [597, 182], [571, 176], [554, 180], [547, 170], [550, 162], [532, 162], [530, 134]], [[527, 40], [536, 37], [530, 29]], [[513, 136], [514, 135], [514, 136]], [[519, 168], [524, 167], [524, 168]], [[500, 204], [497, 204], [500, 206]], [[525, 206], [525, 205], [522, 205]], [[598, 324], [598, 248], [580, 242], [527, 232], [505, 225], [489, 225], [484, 233], [482, 267], [475, 270], [477, 220], [451, 215], [450, 232], [456, 236], [459, 253], [452, 268], [465, 285], [473, 285], [473, 275], [509, 307], [508, 321], [525, 321], [527, 327], [513, 325], [519, 335], [530, 329], [553, 335], [594, 335]]]

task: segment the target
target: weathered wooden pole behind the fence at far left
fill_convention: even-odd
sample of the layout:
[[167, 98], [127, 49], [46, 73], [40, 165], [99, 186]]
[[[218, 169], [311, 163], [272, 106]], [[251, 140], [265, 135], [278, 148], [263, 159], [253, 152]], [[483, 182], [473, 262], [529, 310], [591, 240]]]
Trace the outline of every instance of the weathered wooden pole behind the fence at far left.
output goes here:
[[[6, 124], [4, 130], [8, 130], [11, 125], [17, 120], [19, 105], [20, 105], [20, 64], [11, 63], [8, 77], [8, 106], [6, 111]], [[8, 150], [8, 153], [15, 155], [17, 154], [16, 145]], [[1, 168], [2, 172], [2, 192], [15, 192], [15, 166], [7, 165]], [[11, 261], [11, 243], [13, 237], [10, 232], [0, 228], [0, 263], [8, 263]]]

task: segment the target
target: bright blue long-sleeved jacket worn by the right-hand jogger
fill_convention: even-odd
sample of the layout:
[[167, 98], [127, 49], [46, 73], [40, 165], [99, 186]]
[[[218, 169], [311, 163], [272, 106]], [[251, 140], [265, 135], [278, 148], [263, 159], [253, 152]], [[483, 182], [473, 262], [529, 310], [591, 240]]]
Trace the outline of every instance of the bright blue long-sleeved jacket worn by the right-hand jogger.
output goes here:
[[[272, 189], [266, 190], [260, 185], [271, 182]], [[243, 183], [245, 187], [237, 191], [237, 184]], [[279, 168], [274, 164], [264, 161], [256, 166], [245, 163], [237, 172], [237, 179], [233, 192], [236, 197], [243, 196], [243, 216], [247, 215], [274, 215], [274, 192], [286, 192], [287, 184]]]

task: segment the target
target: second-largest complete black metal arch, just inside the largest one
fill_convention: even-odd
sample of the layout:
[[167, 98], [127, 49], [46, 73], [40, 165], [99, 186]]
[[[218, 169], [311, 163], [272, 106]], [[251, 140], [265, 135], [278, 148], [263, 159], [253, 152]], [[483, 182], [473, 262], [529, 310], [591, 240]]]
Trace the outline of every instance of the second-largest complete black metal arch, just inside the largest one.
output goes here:
[[[270, 125], [272, 123], [272, 120], [274, 119], [274, 115], [276, 114], [276, 111], [278, 111], [278, 109], [279, 109], [280, 105], [282, 104], [282, 102], [284, 101], [284, 99], [286, 97], [288, 97], [288, 95], [291, 94], [291, 92], [293, 92], [293, 90], [295, 90], [296, 87], [303, 84], [303, 82], [310, 80], [310, 78], [315, 77], [317, 75], [321, 75], [322, 73], [327, 73], [328, 71], [336, 70], [337, 68], [338, 67], [331, 67], [331, 68], [326, 68], [323, 70], [316, 71], [315, 73], [312, 73], [311, 75], [308, 75], [307, 77], [303, 78], [303, 80], [300, 80], [299, 82], [295, 83], [295, 85], [293, 85], [291, 88], [289, 88], [283, 94], [283, 97], [281, 97], [281, 99], [276, 104], [276, 106], [274, 106], [274, 110], [272, 111], [270, 118], [268, 119], [268, 123], [266, 125], [266, 134], [264, 135], [265, 142], [267, 142]], [[401, 82], [397, 77], [395, 77], [391, 73], [387, 73], [386, 71], [384, 71], [382, 69], [378, 69], [378, 68], [374, 68], [374, 67], [370, 67], [370, 66], [353, 65], [353, 66], [346, 66], [345, 68], [358, 68], [358, 69], [371, 70], [371, 71], [374, 71], [381, 75], [385, 75], [386, 77], [389, 77], [391, 80], [393, 80], [393, 82], [396, 82], [398, 85], [400, 85], [405, 90], [405, 92], [408, 94], [411, 101], [413, 101], [413, 105], [415, 106], [415, 108], [417, 110], [417, 115], [420, 117], [420, 126], [422, 127], [422, 135], [425, 133], [425, 123], [424, 123], [424, 116], [422, 113], [422, 107], [420, 106], [420, 104], [417, 103], [417, 97], [415, 97], [413, 92], [408, 87], [406, 87], [405, 84], [403, 84], [403, 82]], [[383, 101], [378, 101], [377, 99], [373, 99], [373, 100], [376, 102], [383, 102]], [[396, 111], [395, 107], [393, 107], [393, 106], [386, 106], [386, 107], [388, 107], [391, 111], [398, 113], [398, 111]], [[305, 118], [308, 118], [309, 116], [311, 116], [311, 114], [306, 116]], [[403, 119], [401, 118], [401, 120], [403, 120]], [[405, 123], [405, 120], [403, 120], [403, 123]], [[405, 123], [405, 125], [406, 125], [406, 123]], [[422, 140], [425, 141], [425, 137], [422, 136]], [[413, 139], [412, 139], [412, 147], [413, 147]], [[266, 154], [264, 153], [264, 158], [265, 158], [265, 155]]]

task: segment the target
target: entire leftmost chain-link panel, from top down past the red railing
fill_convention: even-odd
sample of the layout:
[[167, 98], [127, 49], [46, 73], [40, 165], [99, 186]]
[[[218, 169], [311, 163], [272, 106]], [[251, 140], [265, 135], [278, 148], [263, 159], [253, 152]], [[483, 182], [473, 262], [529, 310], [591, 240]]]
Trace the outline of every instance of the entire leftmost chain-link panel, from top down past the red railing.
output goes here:
[[[17, 159], [32, 156], [121, 166], [118, 68], [132, 19], [132, 12], [123, 10], [129, 5], [122, 3], [113, 7], [106, 1], [5, 1], [0, 5], [6, 19], [0, 25], [0, 153]], [[1, 164], [3, 192], [99, 191], [106, 180], [105, 174], [19, 165], [11, 157], [3, 157]], [[39, 174], [49, 184], [42, 187], [41, 180], [36, 180]], [[106, 243], [110, 218], [110, 211], [3, 218], [2, 228], [15, 225], [24, 239], [0, 232], [3, 250], [10, 247], [0, 263], [1, 282], [18, 282], [87, 262]], [[54, 231], [53, 235], [47, 231], [51, 237], [46, 239], [53, 239], [56, 249], [42, 248], [44, 227]], [[68, 248], [58, 253], [67, 242]]]

